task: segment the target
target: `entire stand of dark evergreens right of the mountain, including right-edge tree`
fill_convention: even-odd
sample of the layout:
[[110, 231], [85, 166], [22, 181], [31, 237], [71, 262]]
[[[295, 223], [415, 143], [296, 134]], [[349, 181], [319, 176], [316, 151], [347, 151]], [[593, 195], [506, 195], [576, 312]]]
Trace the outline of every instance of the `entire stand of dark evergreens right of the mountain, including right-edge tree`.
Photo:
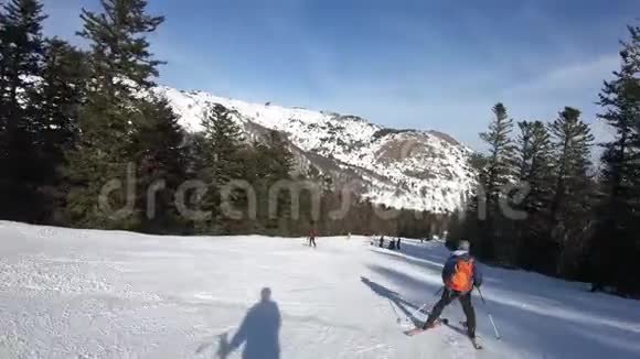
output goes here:
[[[516, 161], [512, 163], [509, 155], [495, 161], [500, 153], [497, 148], [509, 148], [510, 132], [509, 124], [500, 126], [506, 123], [500, 120], [506, 117], [497, 107], [497, 121], [482, 134], [490, 144], [489, 153], [472, 157], [486, 192], [480, 191], [471, 202], [462, 225], [455, 224], [455, 237], [484, 238], [476, 240], [474, 250], [484, 259], [495, 260], [493, 250], [511, 247], [500, 240], [508, 232], [519, 255], [498, 255], [500, 261], [506, 259], [511, 264], [563, 278], [591, 280], [595, 290], [614, 285], [620, 293], [640, 292], [636, 281], [640, 270], [634, 265], [640, 257], [640, 28], [629, 26], [629, 33], [630, 40], [621, 43], [621, 67], [614, 73], [614, 80], [605, 81], [599, 96], [599, 118], [615, 137], [604, 144], [598, 182], [590, 163], [594, 137], [577, 109], [564, 108], [548, 127], [537, 121], [520, 122]], [[513, 208], [526, 213], [524, 219], [495, 225], [492, 198], [500, 195], [492, 184], [505, 182], [494, 181], [500, 176], [492, 173], [506, 174], [502, 176], [511, 177], [506, 182], [529, 185], [531, 192], [523, 200], [509, 198]]]

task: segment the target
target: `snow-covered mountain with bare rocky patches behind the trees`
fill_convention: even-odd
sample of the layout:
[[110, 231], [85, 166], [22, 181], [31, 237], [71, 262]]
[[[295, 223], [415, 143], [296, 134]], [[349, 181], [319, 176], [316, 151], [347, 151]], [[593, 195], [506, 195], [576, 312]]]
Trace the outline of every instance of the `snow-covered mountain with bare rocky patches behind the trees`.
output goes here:
[[452, 211], [473, 183], [471, 150], [437, 131], [395, 130], [355, 116], [250, 104], [202, 91], [156, 88], [182, 126], [199, 131], [202, 119], [220, 104], [252, 137], [265, 130], [286, 134], [302, 168], [314, 167], [340, 187], [350, 185], [373, 203], [394, 208]]

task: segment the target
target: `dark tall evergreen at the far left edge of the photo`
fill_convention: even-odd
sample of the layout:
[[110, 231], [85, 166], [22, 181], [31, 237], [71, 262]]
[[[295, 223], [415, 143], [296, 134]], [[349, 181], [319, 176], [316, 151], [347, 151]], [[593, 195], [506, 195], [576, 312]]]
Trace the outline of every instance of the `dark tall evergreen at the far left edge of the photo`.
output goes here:
[[42, 4], [11, 0], [0, 9], [0, 216], [39, 221], [43, 178], [35, 143], [41, 128], [33, 108], [42, 75]]

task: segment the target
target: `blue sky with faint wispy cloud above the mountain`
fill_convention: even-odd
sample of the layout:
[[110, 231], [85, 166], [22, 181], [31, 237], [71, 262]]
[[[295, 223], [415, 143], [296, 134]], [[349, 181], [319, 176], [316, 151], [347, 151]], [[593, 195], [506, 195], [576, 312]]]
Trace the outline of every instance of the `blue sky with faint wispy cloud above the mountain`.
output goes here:
[[[481, 149], [491, 107], [552, 120], [564, 106], [597, 122], [637, 0], [150, 0], [159, 83], [250, 101], [436, 129]], [[79, 44], [82, 7], [44, 0], [45, 32]], [[74, 39], [75, 37], [75, 39]], [[599, 138], [607, 129], [594, 123]]]

